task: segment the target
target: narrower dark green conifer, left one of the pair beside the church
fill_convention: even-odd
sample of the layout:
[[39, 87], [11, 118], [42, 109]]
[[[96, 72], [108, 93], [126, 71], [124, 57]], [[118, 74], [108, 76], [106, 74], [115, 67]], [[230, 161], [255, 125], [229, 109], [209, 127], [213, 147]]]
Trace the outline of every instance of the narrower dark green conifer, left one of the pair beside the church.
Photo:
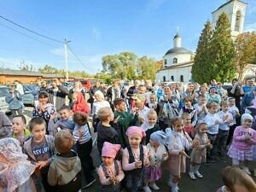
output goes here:
[[212, 38], [212, 26], [210, 20], [207, 20], [204, 29], [201, 32], [201, 37], [196, 48], [194, 65], [192, 67], [192, 79], [200, 84], [209, 82], [211, 79], [211, 61], [209, 60], [209, 50]]

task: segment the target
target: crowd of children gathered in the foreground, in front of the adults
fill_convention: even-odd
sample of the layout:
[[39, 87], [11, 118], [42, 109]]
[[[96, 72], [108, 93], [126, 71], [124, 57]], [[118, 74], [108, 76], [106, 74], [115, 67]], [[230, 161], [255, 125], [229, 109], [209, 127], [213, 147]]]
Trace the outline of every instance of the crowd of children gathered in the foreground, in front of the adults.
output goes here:
[[[72, 109], [63, 105], [58, 113], [47, 102], [47, 93], [39, 93], [39, 104], [33, 111], [37, 117], [30, 120], [29, 129], [26, 118], [17, 115], [9, 137], [0, 139], [0, 191], [78, 192], [82, 174], [84, 188], [88, 188], [95, 183], [93, 172], [97, 170], [102, 192], [151, 192], [160, 190], [157, 182], [166, 170], [167, 184], [177, 192], [187, 162], [189, 177], [195, 180], [204, 177], [202, 164], [224, 160], [227, 155], [236, 167], [224, 170], [225, 186], [218, 191], [256, 191], [247, 176], [251, 175], [249, 162], [256, 159], [255, 117], [241, 115], [233, 97], [221, 101], [216, 88], [211, 87], [208, 95], [195, 94], [192, 85], [184, 92], [173, 84], [163, 85], [159, 98], [160, 90], [148, 90], [145, 95], [145, 86], [140, 85], [130, 105], [115, 98], [114, 111], [104, 94], [96, 90], [91, 113], [79, 102], [83, 100], [80, 92], [73, 93]], [[96, 157], [102, 162], [97, 169], [91, 157], [94, 143]], [[17, 175], [10, 179], [19, 172], [26, 172], [24, 178]], [[227, 175], [233, 172], [237, 176], [230, 179]]]

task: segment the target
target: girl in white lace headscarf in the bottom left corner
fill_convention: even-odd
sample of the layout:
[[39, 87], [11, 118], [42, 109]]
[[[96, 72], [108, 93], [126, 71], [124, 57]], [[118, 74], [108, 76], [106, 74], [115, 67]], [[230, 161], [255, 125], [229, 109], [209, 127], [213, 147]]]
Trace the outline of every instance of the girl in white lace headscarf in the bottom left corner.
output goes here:
[[22, 154], [18, 140], [10, 137], [0, 139], [0, 190], [36, 192], [31, 178], [35, 168], [26, 154]]

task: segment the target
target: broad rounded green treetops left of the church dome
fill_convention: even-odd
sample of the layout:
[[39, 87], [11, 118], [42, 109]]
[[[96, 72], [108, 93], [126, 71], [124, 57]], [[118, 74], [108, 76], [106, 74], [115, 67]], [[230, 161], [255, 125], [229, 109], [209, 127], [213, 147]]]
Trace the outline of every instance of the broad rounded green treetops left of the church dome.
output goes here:
[[112, 79], [155, 79], [155, 73], [160, 69], [154, 59], [143, 56], [139, 58], [132, 52], [121, 52], [118, 55], [102, 57], [103, 72]]

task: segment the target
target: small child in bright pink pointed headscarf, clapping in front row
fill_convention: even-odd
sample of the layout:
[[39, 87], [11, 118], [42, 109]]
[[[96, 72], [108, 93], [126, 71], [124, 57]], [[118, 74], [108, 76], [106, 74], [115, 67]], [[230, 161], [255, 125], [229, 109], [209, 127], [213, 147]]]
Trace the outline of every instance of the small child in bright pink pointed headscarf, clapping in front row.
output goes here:
[[102, 165], [98, 169], [101, 192], [119, 192], [120, 182], [125, 177], [122, 166], [114, 160], [121, 145], [105, 142], [102, 148]]

